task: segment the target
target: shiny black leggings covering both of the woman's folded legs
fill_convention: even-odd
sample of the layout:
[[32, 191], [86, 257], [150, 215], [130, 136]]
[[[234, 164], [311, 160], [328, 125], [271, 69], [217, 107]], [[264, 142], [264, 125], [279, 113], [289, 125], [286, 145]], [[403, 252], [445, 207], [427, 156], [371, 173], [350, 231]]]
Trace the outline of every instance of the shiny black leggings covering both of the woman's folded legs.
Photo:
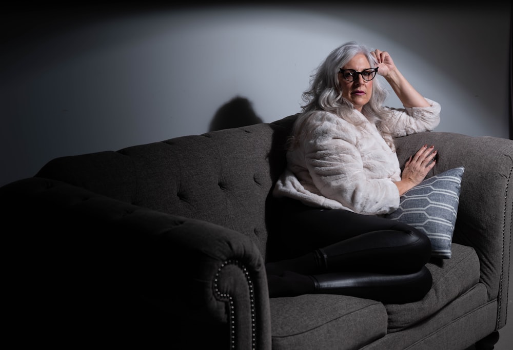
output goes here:
[[409, 302], [429, 290], [431, 275], [425, 264], [431, 243], [419, 230], [395, 220], [312, 208], [291, 199], [283, 204], [280, 238], [288, 255], [266, 264], [270, 291], [277, 296], [310, 292], [285, 291], [292, 281], [306, 281], [295, 273], [313, 275], [314, 293]]

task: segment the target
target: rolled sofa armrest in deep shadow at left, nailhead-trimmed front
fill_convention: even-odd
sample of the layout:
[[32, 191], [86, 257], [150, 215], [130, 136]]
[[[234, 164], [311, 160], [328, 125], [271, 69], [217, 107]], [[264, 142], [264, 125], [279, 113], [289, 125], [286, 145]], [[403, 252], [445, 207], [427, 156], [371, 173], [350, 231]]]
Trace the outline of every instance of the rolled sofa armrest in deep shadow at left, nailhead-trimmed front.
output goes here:
[[271, 347], [263, 257], [248, 236], [37, 177], [0, 188], [0, 212], [14, 228], [12, 300], [44, 337]]

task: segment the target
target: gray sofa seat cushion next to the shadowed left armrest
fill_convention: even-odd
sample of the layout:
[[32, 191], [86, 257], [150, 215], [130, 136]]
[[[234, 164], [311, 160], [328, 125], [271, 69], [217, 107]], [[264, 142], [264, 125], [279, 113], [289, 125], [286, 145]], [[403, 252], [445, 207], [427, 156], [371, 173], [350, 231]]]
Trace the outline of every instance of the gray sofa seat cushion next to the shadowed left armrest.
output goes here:
[[343, 295], [271, 298], [272, 348], [354, 349], [387, 333], [385, 306]]

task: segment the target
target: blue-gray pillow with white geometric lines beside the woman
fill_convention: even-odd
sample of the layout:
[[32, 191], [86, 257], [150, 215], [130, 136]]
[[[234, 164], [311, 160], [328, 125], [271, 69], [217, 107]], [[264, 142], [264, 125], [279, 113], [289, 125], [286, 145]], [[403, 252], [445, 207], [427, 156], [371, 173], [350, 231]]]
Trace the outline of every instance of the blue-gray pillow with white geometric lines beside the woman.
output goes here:
[[463, 167], [455, 168], [425, 179], [403, 194], [399, 208], [385, 216], [424, 232], [431, 240], [431, 256], [451, 257], [464, 170]]

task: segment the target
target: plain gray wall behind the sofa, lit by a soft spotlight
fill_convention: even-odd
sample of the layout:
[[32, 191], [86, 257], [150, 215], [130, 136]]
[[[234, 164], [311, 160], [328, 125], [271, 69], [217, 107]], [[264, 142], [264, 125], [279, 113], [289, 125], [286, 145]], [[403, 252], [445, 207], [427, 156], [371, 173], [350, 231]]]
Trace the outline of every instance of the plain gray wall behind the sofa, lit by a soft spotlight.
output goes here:
[[4, 11], [0, 186], [57, 156], [204, 133], [235, 96], [266, 122], [296, 113], [313, 69], [353, 39], [442, 104], [437, 131], [510, 137], [509, 2], [317, 4]]

